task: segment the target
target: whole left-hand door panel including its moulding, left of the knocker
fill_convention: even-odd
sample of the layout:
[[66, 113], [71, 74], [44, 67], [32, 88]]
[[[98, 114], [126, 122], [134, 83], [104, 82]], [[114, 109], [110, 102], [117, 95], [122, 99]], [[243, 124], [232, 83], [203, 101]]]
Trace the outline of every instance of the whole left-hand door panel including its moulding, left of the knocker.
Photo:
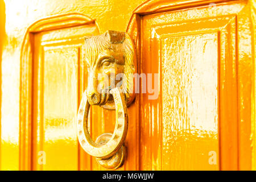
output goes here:
[[95, 26], [85, 25], [34, 35], [32, 169], [77, 170], [85, 163], [76, 134], [87, 78], [82, 44], [84, 36], [97, 33]]

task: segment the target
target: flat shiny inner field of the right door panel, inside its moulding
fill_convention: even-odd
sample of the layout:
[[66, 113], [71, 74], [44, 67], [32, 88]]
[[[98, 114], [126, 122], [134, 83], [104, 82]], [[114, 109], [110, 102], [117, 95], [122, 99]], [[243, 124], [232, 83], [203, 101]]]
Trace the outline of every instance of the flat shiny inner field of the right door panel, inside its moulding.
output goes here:
[[217, 35], [160, 39], [163, 169], [218, 169]]

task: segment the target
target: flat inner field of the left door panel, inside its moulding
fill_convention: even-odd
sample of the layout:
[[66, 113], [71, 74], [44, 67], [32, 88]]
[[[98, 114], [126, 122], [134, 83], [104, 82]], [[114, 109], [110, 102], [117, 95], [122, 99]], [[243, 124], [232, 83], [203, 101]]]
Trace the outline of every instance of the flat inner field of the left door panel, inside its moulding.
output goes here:
[[42, 125], [43, 150], [47, 154], [47, 160], [44, 169], [70, 167], [69, 169], [77, 170], [78, 143], [75, 126], [77, 107], [75, 106], [78, 105], [79, 95], [77, 63], [79, 48], [46, 49], [44, 48]]

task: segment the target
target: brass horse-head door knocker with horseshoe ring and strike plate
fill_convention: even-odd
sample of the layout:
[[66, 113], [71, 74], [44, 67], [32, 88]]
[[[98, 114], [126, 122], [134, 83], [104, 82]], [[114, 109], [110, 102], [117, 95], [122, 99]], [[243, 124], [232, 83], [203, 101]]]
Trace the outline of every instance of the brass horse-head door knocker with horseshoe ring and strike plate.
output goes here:
[[[77, 136], [81, 147], [108, 169], [121, 167], [126, 158], [127, 106], [134, 98], [134, 46], [125, 32], [107, 31], [85, 37], [88, 87], [77, 114]], [[115, 109], [114, 133], [104, 133], [93, 142], [88, 132], [90, 105]]]

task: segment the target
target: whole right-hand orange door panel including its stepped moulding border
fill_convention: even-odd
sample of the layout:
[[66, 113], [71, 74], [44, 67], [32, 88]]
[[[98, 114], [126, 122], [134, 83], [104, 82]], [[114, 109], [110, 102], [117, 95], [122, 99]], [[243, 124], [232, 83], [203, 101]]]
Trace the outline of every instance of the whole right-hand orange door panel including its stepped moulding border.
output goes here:
[[142, 17], [139, 68], [159, 73], [160, 92], [156, 100], [141, 94], [141, 169], [238, 169], [237, 19], [246, 24], [246, 9], [227, 3]]

